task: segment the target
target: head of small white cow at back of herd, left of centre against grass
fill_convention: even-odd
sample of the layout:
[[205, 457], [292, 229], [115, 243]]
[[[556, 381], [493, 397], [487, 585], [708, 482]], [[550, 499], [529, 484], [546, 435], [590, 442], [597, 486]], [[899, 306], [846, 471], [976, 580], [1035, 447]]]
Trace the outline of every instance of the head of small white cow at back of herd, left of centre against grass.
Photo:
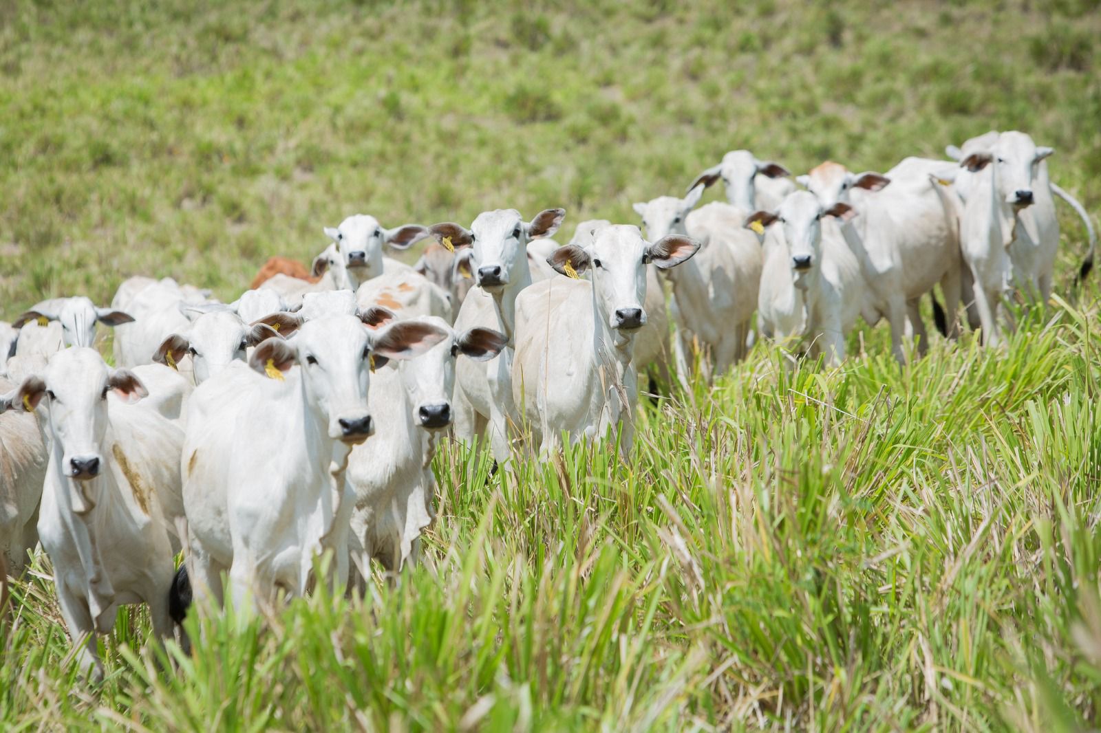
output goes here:
[[326, 227], [325, 233], [333, 244], [314, 259], [314, 275], [331, 269], [338, 288], [355, 291], [363, 281], [382, 274], [383, 244], [396, 250], [408, 249], [427, 237], [428, 230], [419, 225], [386, 229], [374, 217], [357, 214], [336, 229]]

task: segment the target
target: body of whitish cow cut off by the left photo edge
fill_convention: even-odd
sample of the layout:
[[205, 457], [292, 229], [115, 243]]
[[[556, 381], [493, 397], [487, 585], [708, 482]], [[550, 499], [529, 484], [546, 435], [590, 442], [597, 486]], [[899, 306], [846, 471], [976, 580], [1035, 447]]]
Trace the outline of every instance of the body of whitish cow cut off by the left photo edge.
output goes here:
[[[46, 446], [34, 415], [19, 409], [18, 383], [0, 380], [0, 560], [19, 577], [39, 544]], [[12, 407], [17, 409], [11, 409]], [[0, 583], [4, 578], [0, 577]]]

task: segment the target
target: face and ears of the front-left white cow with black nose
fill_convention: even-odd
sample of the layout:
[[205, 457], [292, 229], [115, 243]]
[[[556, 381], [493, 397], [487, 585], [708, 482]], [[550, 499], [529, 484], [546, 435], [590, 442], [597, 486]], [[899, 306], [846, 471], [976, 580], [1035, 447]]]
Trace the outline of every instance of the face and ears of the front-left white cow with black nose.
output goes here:
[[28, 376], [19, 387], [18, 403], [28, 412], [46, 398], [50, 430], [62, 451], [62, 470], [70, 479], [94, 479], [103, 467], [101, 447], [111, 392], [126, 402], [149, 394], [132, 372], [110, 369], [98, 351], [86, 347], [58, 351], [42, 376]]

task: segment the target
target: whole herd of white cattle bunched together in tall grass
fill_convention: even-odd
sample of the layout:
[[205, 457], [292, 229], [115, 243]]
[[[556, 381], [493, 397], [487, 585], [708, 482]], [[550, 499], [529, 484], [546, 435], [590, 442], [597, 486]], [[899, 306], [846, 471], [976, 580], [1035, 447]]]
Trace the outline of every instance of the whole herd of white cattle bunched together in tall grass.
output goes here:
[[[684, 198], [635, 204], [642, 229], [586, 221], [564, 247], [563, 209], [396, 229], [359, 215], [325, 229], [312, 273], [273, 258], [229, 304], [140, 276], [109, 308], [44, 300], [0, 324], [0, 578], [41, 541], [97, 678], [119, 605], [149, 604], [164, 637], [193, 594], [217, 609], [226, 577], [240, 608], [415, 561], [447, 433], [505, 469], [564, 438], [617, 436], [628, 453], [640, 371], [687, 384], [698, 364], [710, 381], [761, 339], [832, 365], [858, 317], [886, 318], [902, 361], [907, 338], [925, 350], [918, 303], [938, 284], [939, 329], [996, 344], [1004, 298], [1050, 293], [1054, 197], [1086, 222], [1082, 276], [1092, 263], [1051, 152], [990, 132], [949, 146], [955, 161], [827, 162], [793, 182], [734, 151]], [[696, 208], [719, 180], [728, 203]], [[423, 239], [412, 266], [383, 254]], [[115, 329], [113, 368], [97, 324]]]

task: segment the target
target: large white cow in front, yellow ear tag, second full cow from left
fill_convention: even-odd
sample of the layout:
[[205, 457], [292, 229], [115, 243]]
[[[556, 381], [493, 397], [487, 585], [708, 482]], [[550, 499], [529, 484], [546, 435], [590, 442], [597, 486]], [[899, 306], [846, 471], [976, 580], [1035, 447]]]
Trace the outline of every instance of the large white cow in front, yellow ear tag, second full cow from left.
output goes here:
[[226, 570], [238, 609], [266, 604], [276, 588], [303, 594], [326, 550], [333, 577], [348, 577], [345, 470], [374, 431], [371, 357], [410, 359], [446, 337], [417, 321], [372, 332], [353, 316], [323, 317], [195, 390], [182, 472], [197, 597], [220, 602]]

